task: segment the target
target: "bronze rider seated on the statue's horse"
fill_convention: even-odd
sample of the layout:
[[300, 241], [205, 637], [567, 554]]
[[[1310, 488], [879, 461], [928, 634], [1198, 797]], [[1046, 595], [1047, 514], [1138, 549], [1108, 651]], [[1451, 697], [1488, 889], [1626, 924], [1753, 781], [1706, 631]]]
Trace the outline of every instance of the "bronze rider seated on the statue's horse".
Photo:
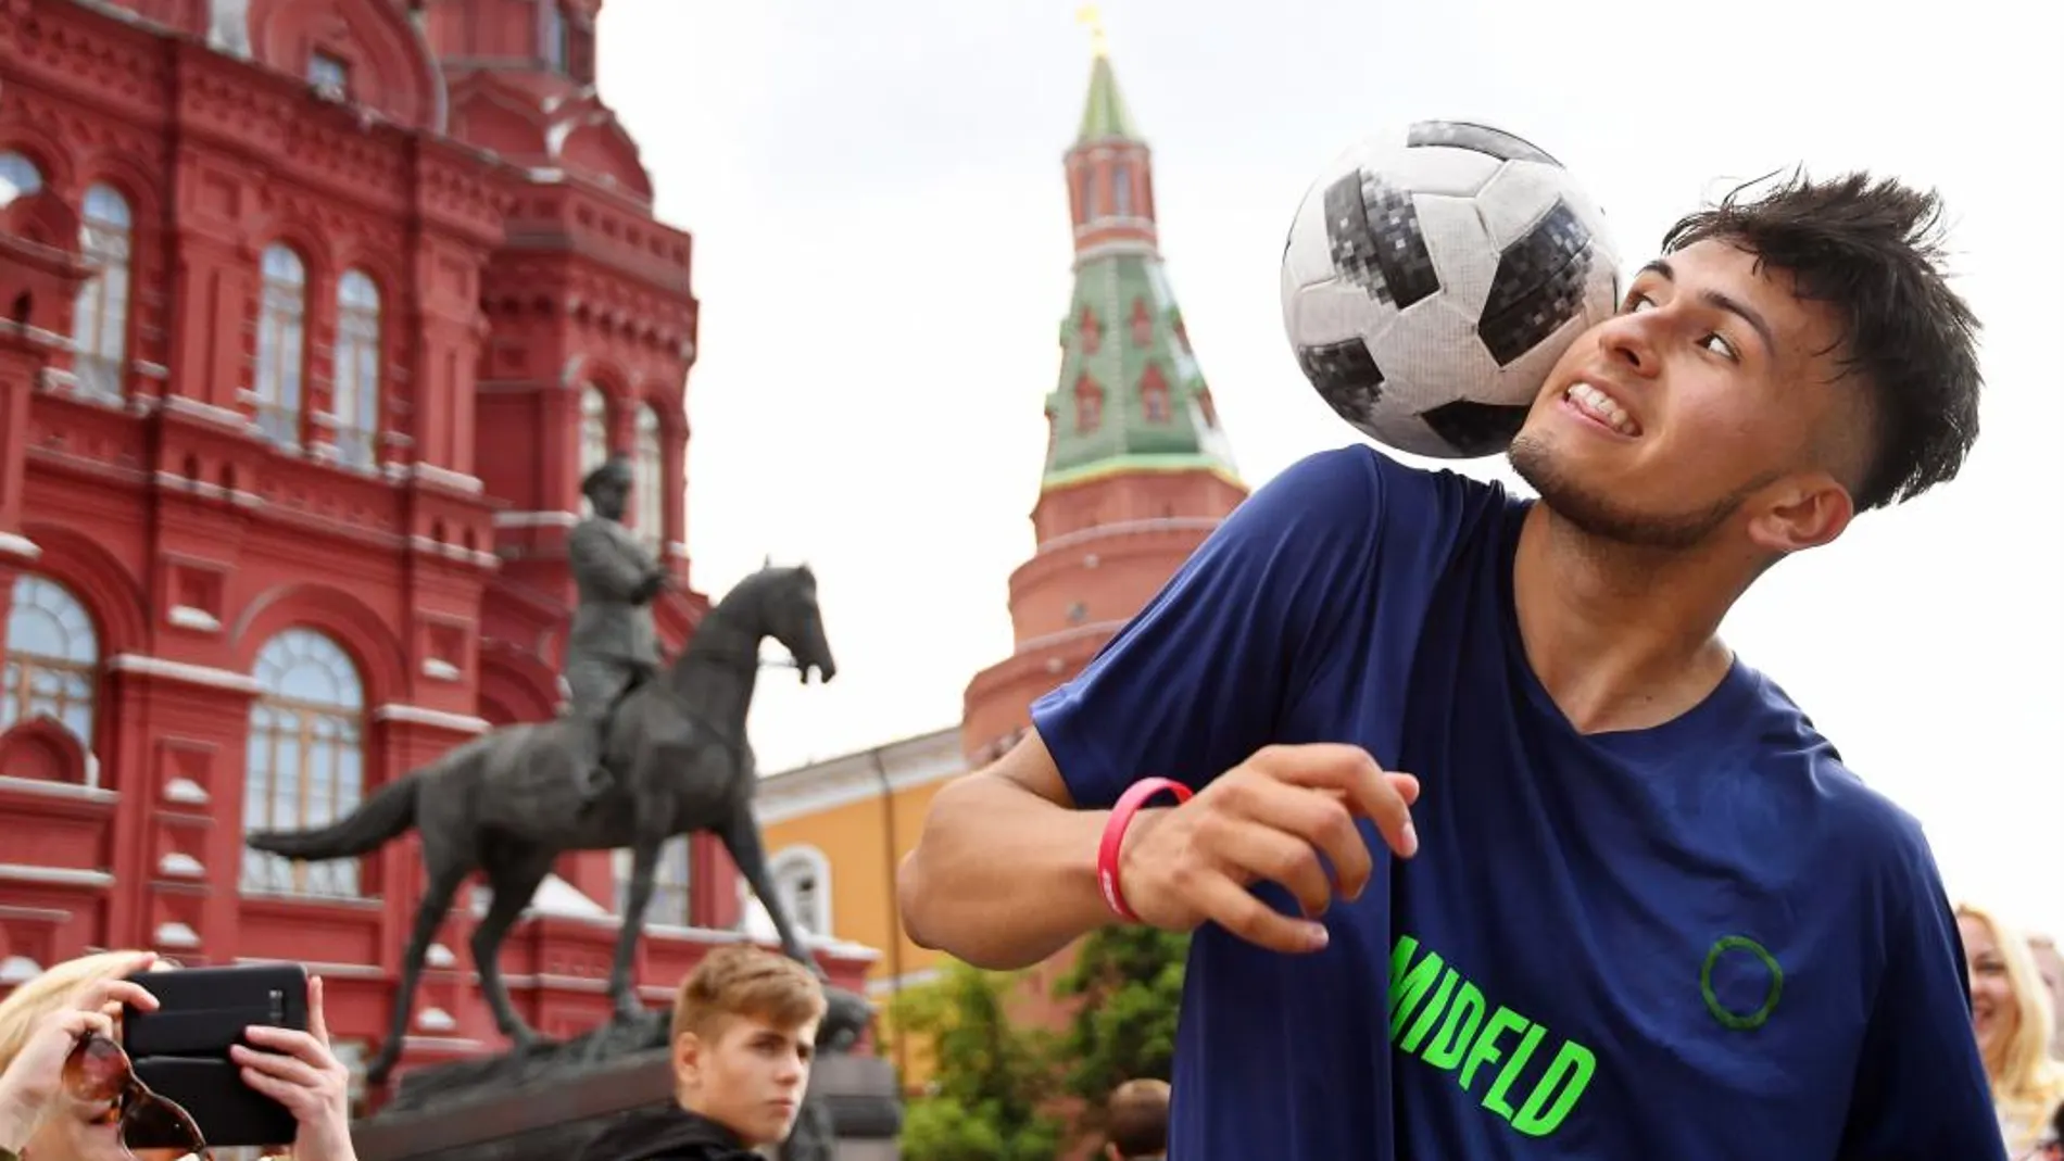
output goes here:
[[570, 709], [594, 724], [596, 755], [582, 798], [592, 802], [613, 773], [607, 763], [611, 711], [625, 693], [658, 672], [658, 635], [652, 598], [667, 588], [667, 573], [623, 526], [632, 495], [632, 462], [615, 454], [580, 480], [594, 513], [574, 526], [566, 553], [580, 606], [566, 637]]

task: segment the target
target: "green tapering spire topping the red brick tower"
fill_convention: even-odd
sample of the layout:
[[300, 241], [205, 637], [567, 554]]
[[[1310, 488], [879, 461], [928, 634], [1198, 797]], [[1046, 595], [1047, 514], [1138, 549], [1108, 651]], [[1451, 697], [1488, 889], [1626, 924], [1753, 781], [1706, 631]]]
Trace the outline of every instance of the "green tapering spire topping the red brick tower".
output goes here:
[[1232, 450], [1162, 266], [1152, 153], [1100, 37], [1065, 165], [1075, 293], [1061, 320], [1061, 377], [1046, 400], [1040, 491], [1123, 470], [1201, 470], [1236, 485]]

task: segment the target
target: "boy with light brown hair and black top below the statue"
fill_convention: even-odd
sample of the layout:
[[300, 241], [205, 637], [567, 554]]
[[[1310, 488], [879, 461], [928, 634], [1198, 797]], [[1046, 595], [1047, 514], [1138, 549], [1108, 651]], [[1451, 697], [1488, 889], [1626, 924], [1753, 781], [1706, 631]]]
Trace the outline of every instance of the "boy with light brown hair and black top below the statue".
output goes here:
[[712, 951], [673, 1002], [677, 1107], [607, 1128], [582, 1161], [760, 1161], [795, 1128], [824, 1019], [807, 967], [755, 947]]

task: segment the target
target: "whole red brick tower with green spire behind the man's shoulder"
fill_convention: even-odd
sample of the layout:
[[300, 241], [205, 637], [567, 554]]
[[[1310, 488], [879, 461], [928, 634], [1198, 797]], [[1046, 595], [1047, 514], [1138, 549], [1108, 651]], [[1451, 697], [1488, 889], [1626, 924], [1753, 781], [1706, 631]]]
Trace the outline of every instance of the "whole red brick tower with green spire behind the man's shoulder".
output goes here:
[[1154, 167], [1102, 35], [1065, 155], [1075, 291], [1046, 396], [1036, 551], [1009, 579], [1015, 648], [968, 683], [970, 765], [1096, 656], [1245, 497], [1154, 225]]

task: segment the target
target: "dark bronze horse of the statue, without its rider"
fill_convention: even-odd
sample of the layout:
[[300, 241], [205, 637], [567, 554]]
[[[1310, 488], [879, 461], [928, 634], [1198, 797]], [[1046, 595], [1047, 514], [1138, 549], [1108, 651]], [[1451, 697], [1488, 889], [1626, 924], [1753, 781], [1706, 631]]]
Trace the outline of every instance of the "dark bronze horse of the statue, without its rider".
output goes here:
[[[502, 982], [502, 940], [553, 860], [570, 850], [632, 850], [630, 899], [609, 971], [617, 1019], [642, 1010], [632, 992], [632, 955], [652, 901], [660, 845], [675, 835], [714, 831], [766, 905], [782, 949], [817, 967], [774, 891], [753, 819], [757, 769], [745, 716], [766, 637], [788, 650], [803, 683], [813, 670], [832, 681], [836, 666], [817, 610], [817, 579], [807, 565], [760, 569], [724, 594], [681, 656], [617, 701], [607, 742], [580, 718], [504, 726], [382, 786], [341, 823], [246, 835], [254, 850], [293, 860], [359, 858], [411, 827], [421, 835], [429, 887], [415, 911], [386, 1043], [367, 1068], [372, 1083], [384, 1083], [400, 1056], [423, 955], [475, 870], [487, 876], [493, 903], [473, 932], [473, 963], [495, 1025], [518, 1048], [535, 1043], [537, 1033], [516, 1015]], [[582, 808], [596, 744], [607, 744], [615, 777]]]

